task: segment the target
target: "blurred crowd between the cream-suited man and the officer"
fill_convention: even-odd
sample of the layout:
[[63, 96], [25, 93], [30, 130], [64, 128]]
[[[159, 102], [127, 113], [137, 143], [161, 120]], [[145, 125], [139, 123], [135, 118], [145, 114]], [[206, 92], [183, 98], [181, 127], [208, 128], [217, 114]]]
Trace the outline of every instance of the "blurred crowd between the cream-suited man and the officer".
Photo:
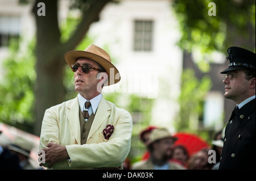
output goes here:
[[222, 130], [214, 134], [212, 145], [203, 146], [189, 154], [189, 146], [176, 144], [179, 139], [166, 128], [147, 127], [140, 136], [146, 151], [141, 160], [131, 163], [127, 158], [123, 168], [127, 170], [218, 170], [223, 141]]

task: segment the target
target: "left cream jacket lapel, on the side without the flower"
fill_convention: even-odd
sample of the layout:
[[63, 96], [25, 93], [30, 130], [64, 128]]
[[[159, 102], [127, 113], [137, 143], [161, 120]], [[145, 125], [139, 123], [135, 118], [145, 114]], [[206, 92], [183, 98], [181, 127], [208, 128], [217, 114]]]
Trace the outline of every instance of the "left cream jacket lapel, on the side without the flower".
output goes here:
[[79, 101], [78, 97], [72, 99], [67, 104], [66, 115], [71, 126], [71, 130], [78, 144], [81, 144], [80, 121], [79, 121]]

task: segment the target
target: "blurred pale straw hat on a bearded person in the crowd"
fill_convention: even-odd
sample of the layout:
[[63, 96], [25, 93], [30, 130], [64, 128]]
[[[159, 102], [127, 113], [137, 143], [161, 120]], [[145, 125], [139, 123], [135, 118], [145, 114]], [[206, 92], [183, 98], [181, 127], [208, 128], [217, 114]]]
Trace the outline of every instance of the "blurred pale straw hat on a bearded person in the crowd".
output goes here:
[[161, 140], [163, 138], [172, 138], [174, 142], [177, 140], [176, 137], [171, 136], [171, 133], [166, 128], [155, 128], [152, 130], [150, 134], [150, 142], [148, 146], [150, 146], [153, 142]]

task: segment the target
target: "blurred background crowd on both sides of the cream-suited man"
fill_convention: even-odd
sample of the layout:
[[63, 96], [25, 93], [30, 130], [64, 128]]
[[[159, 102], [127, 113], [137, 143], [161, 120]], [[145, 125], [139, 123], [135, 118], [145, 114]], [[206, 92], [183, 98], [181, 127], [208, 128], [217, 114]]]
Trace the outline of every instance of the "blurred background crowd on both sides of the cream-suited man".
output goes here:
[[[189, 153], [185, 144], [176, 144], [179, 138], [172, 136], [166, 128], [147, 127], [139, 134], [146, 148], [138, 162], [129, 158], [123, 163], [125, 170], [214, 170], [218, 169], [223, 146], [223, 131], [216, 132], [212, 145]], [[33, 142], [22, 136], [10, 140], [0, 131], [0, 170], [43, 169], [31, 158]], [[214, 155], [209, 154], [214, 150]], [[210, 158], [214, 156], [214, 158]], [[34, 162], [34, 164], [32, 164]]]

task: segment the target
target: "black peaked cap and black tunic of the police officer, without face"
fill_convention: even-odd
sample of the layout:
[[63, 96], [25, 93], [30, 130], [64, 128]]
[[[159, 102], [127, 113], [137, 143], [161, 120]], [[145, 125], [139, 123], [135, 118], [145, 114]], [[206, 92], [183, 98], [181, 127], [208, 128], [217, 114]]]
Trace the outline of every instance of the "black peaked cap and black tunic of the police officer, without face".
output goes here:
[[[255, 71], [255, 53], [240, 47], [228, 49], [229, 68], [232, 70], [250, 69]], [[225, 128], [219, 169], [256, 169], [255, 140], [255, 98], [240, 110], [234, 109]]]

